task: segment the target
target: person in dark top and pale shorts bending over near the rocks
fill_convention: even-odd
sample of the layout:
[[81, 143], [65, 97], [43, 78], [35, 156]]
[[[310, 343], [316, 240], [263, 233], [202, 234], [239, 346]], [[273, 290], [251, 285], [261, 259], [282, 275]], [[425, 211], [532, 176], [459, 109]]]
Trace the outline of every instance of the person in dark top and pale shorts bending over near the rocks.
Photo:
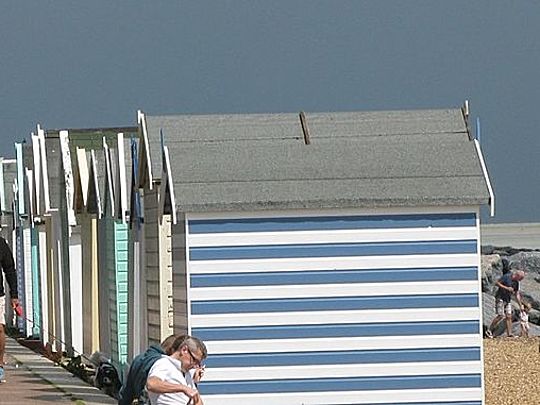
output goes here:
[[501, 278], [497, 280], [497, 293], [495, 294], [495, 312], [496, 316], [491, 322], [488, 330], [486, 331], [486, 336], [489, 338], [493, 337], [493, 329], [497, 324], [504, 318], [506, 322], [506, 336], [511, 337], [512, 335], [512, 295], [515, 295], [516, 300], [521, 308], [521, 293], [519, 291], [519, 282], [525, 277], [525, 272], [523, 270], [517, 270], [514, 272], [508, 272], [503, 274]]

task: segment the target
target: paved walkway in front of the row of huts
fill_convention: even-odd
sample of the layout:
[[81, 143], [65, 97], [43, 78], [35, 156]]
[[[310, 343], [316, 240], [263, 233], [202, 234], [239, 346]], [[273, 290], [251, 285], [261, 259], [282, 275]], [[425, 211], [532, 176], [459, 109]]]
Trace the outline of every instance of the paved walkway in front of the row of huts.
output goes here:
[[0, 384], [2, 405], [117, 403], [97, 388], [9, 337], [5, 360], [7, 382]]

